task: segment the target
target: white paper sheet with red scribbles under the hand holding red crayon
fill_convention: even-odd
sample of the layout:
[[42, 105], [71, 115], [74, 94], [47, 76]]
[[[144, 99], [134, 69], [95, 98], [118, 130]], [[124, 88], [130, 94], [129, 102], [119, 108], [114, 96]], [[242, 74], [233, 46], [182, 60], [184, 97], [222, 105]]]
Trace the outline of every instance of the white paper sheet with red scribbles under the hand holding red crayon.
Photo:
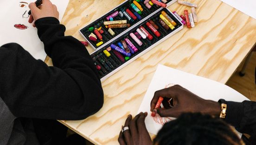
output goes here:
[[207, 100], [218, 101], [219, 99], [225, 99], [227, 101], [237, 102], [249, 100], [236, 90], [222, 83], [159, 65], [138, 111], [138, 113], [148, 113], [145, 123], [147, 130], [150, 133], [157, 134], [157, 132], [162, 128], [162, 125], [156, 123], [150, 115], [150, 102], [154, 96], [154, 92], [166, 88], [166, 85], [168, 84], [169, 86], [170, 84], [179, 84], [180, 86], [190, 90], [192, 93]]

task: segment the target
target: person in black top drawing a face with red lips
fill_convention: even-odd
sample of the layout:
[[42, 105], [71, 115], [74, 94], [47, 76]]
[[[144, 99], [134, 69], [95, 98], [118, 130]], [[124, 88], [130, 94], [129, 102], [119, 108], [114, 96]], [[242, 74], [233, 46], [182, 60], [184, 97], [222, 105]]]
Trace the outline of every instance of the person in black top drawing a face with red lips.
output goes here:
[[101, 81], [83, 44], [64, 36], [57, 7], [50, 0], [29, 7], [29, 22], [35, 21], [54, 67], [19, 44], [0, 47], [0, 145], [65, 145], [57, 138], [67, 129], [56, 120], [83, 120], [96, 113], [103, 105]]

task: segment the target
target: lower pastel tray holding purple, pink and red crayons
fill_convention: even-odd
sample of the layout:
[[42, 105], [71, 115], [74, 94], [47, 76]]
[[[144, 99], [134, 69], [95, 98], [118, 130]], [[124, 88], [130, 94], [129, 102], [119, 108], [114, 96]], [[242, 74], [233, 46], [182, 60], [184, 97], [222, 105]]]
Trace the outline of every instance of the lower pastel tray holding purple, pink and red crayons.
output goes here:
[[[166, 17], [172, 19], [173, 23]], [[183, 24], [179, 19], [168, 9], [162, 8], [114, 41], [96, 50], [91, 57], [101, 80], [112, 76], [182, 28]]]

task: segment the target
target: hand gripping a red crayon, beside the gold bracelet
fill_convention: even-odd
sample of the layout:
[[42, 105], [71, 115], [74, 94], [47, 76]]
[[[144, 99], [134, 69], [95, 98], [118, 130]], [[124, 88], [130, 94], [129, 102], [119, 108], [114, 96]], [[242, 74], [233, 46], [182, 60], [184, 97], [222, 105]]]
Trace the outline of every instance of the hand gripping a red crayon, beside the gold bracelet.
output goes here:
[[[160, 96], [164, 97], [164, 101], [162, 102], [164, 108], [155, 109], [155, 105]], [[172, 102], [170, 104], [168, 101], [171, 98]], [[179, 85], [156, 91], [150, 107], [150, 111], [158, 113], [161, 117], [177, 118], [181, 113], [188, 112], [200, 112], [218, 116], [221, 112], [221, 107], [218, 102], [202, 99]]]

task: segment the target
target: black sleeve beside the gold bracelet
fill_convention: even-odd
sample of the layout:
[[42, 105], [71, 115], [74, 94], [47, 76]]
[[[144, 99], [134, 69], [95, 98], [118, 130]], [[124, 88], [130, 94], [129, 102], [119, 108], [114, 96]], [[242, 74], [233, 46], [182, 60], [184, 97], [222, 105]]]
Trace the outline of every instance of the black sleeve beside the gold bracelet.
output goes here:
[[256, 102], [243, 101], [240, 103], [223, 99], [220, 101], [227, 104], [224, 120], [234, 126], [238, 132], [249, 134], [251, 145], [256, 145]]

